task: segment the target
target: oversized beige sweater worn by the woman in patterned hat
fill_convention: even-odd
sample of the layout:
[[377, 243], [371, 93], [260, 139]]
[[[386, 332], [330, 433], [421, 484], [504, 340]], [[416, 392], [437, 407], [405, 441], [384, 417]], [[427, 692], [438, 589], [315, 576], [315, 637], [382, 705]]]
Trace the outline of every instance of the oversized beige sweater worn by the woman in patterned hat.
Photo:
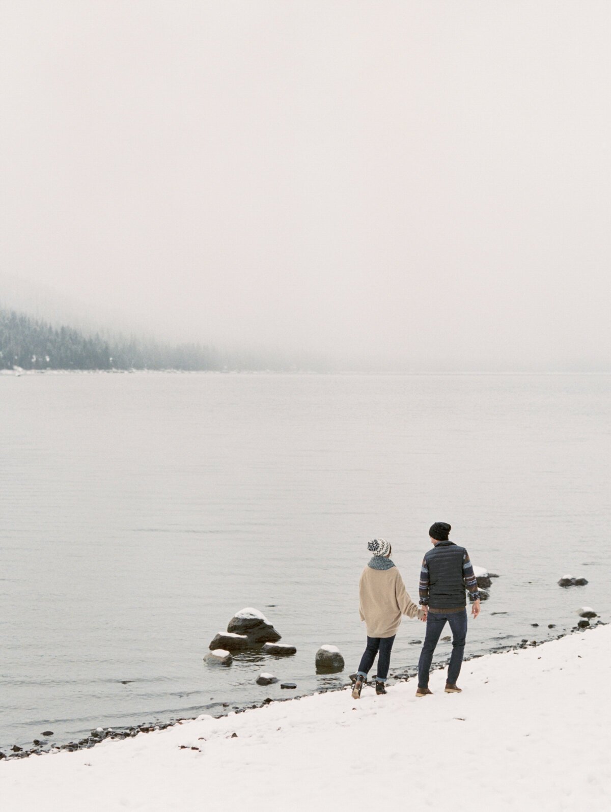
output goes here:
[[366, 567], [358, 582], [358, 611], [365, 620], [367, 637], [392, 637], [397, 634], [401, 615], [416, 617], [422, 611], [405, 591], [397, 567], [372, 569]]

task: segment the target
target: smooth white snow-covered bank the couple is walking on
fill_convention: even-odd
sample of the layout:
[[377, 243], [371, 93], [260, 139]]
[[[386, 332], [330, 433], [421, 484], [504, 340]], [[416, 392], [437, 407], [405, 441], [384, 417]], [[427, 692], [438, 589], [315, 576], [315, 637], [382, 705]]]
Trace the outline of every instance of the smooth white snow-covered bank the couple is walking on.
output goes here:
[[[0, 763], [3, 812], [611, 808], [611, 625], [415, 680]], [[235, 735], [234, 735], [235, 734]]]

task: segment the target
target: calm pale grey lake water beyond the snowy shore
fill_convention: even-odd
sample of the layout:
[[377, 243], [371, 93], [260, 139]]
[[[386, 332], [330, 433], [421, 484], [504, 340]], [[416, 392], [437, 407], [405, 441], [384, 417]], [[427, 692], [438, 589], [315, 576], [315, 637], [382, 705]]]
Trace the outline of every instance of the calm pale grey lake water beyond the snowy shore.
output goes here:
[[[609, 620], [610, 394], [609, 375], [0, 376], [0, 749], [285, 698], [261, 670], [341, 685], [366, 542], [392, 542], [417, 599], [434, 520], [500, 575], [468, 653], [584, 604]], [[206, 667], [243, 607], [297, 654]], [[423, 631], [404, 619], [391, 672]], [[315, 675], [325, 643], [343, 675]]]

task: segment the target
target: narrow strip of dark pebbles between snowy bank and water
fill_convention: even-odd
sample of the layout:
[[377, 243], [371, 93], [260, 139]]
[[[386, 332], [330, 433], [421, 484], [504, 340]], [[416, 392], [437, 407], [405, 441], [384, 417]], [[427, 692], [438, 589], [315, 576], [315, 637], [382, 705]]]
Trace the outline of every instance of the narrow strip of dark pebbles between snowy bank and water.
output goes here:
[[[581, 622], [581, 621], [580, 621]], [[537, 625], [537, 624], [533, 624]], [[553, 627], [553, 624], [549, 624]], [[500, 645], [500, 646], [492, 646], [490, 650], [487, 652], [488, 654], [500, 654], [504, 651], [511, 651], [511, 650], [520, 650], [526, 648], [534, 648], [535, 646], [542, 646], [544, 643], [549, 642], [551, 640], [560, 640], [561, 637], [568, 637], [571, 634], [575, 633], [582, 633], [586, 631], [588, 628], [596, 628], [600, 625], [606, 625], [604, 621], [598, 620], [596, 623], [590, 624], [589, 619], [587, 624], [583, 626], [577, 625], [570, 630], [557, 634], [554, 637], [549, 638], [548, 640], [529, 640], [527, 637], [522, 638], [522, 641], [519, 643], [511, 643], [508, 645]], [[479, 659], [483, 657], [484, 654], [468, 654], [465, 658], [465, 662], [468, 662], [473, 659]], [[447, 663], [434, 663], [431, 670], [438, 670], [441, 668], [446, 667]], [[397, 671], [391, 671], [391, 676], [394, 680], [399, 682], [404, 682], [405, 680], [410, 680], [413, 678], [417, 673], [417, 670], [412, 668], [407, 669], [397, 669]], [[293, 685], [293, 684], [291, 684]], [[252, 702], [247, 705], [243, 706], [236, 706], [235, 704], [230, 706], [229, 702], [219, 703], [223, 706], [223, 711], [217, 714], [217, 718], [222, 716], [226, 716], [229, 713], [244, 713], [245, 711], [254, 710], [258, 707], [263, 707], [266, 705], [270, 705], [272, 702], [288, 702], [293, 698], [300, 698], [301, 696], [310, 696], [317, 693], [329, 693], [333, 691], [340, 691], [345, 689], [347, 685], [350, 685], [349, 680], [344, 680], [342, 685], [321, 685], [318, 689], [314, 691], [308, 691], [303, 694], [294, 694], [291, 693], [287, 697], [281, 698], [271, 698], [267, 697], [263, 699], [261, 702]], [[30, 756], [42, 755], [42, 754], [54, 754], [54, 753], [61, 753], [63, 751], [67, 751], [72, 753], [76, 750], [80, 749], [90, 749], [95, 747], [96, 745], [100, 744], [102, 741], [106, 740], [124, 740], [128, 738], [134, 738], [140, 734], [150, 733], [159, 730], [165, 730], [167, 728], [175, 727], [176, 725], [180, 725], [184, 722], [189, 722], [192, 719], [196, 719], [197, 716], [189, 716], [183, 717], [180, 719], [170, 719], [167, 722], [150, 722], [150, 723], [141, 723], [137, 725], [128, 725], [124, 727], [114, 727], [114, 728], [95, 728], [92, 729], [89, 733], [89, 736], [83, 736], [78, 741], [69, 741], [64, 744], [57, 744], [54, 741], [49, 741], [51, 737], [54, 735], [52, 731], [44, 731], [41, 733], [40, 739], [34, 739], [32, 741], [31, 748], [21, 748], [19, 745], [13, 745], [9, 749], [5, 749], [5, 751], [0, 752], [0, 760], [3, 761], [11, 761], [15, 758], [29, 758]]]

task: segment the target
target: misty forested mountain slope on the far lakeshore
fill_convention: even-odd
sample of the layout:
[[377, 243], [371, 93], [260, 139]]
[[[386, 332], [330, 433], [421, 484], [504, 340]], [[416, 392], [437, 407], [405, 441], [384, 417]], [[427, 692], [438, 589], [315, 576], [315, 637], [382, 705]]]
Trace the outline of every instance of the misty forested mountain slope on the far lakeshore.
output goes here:
[[228, 359], [199, 344], [102, 339], [0, 309], [0, 369], [223, 369]]

